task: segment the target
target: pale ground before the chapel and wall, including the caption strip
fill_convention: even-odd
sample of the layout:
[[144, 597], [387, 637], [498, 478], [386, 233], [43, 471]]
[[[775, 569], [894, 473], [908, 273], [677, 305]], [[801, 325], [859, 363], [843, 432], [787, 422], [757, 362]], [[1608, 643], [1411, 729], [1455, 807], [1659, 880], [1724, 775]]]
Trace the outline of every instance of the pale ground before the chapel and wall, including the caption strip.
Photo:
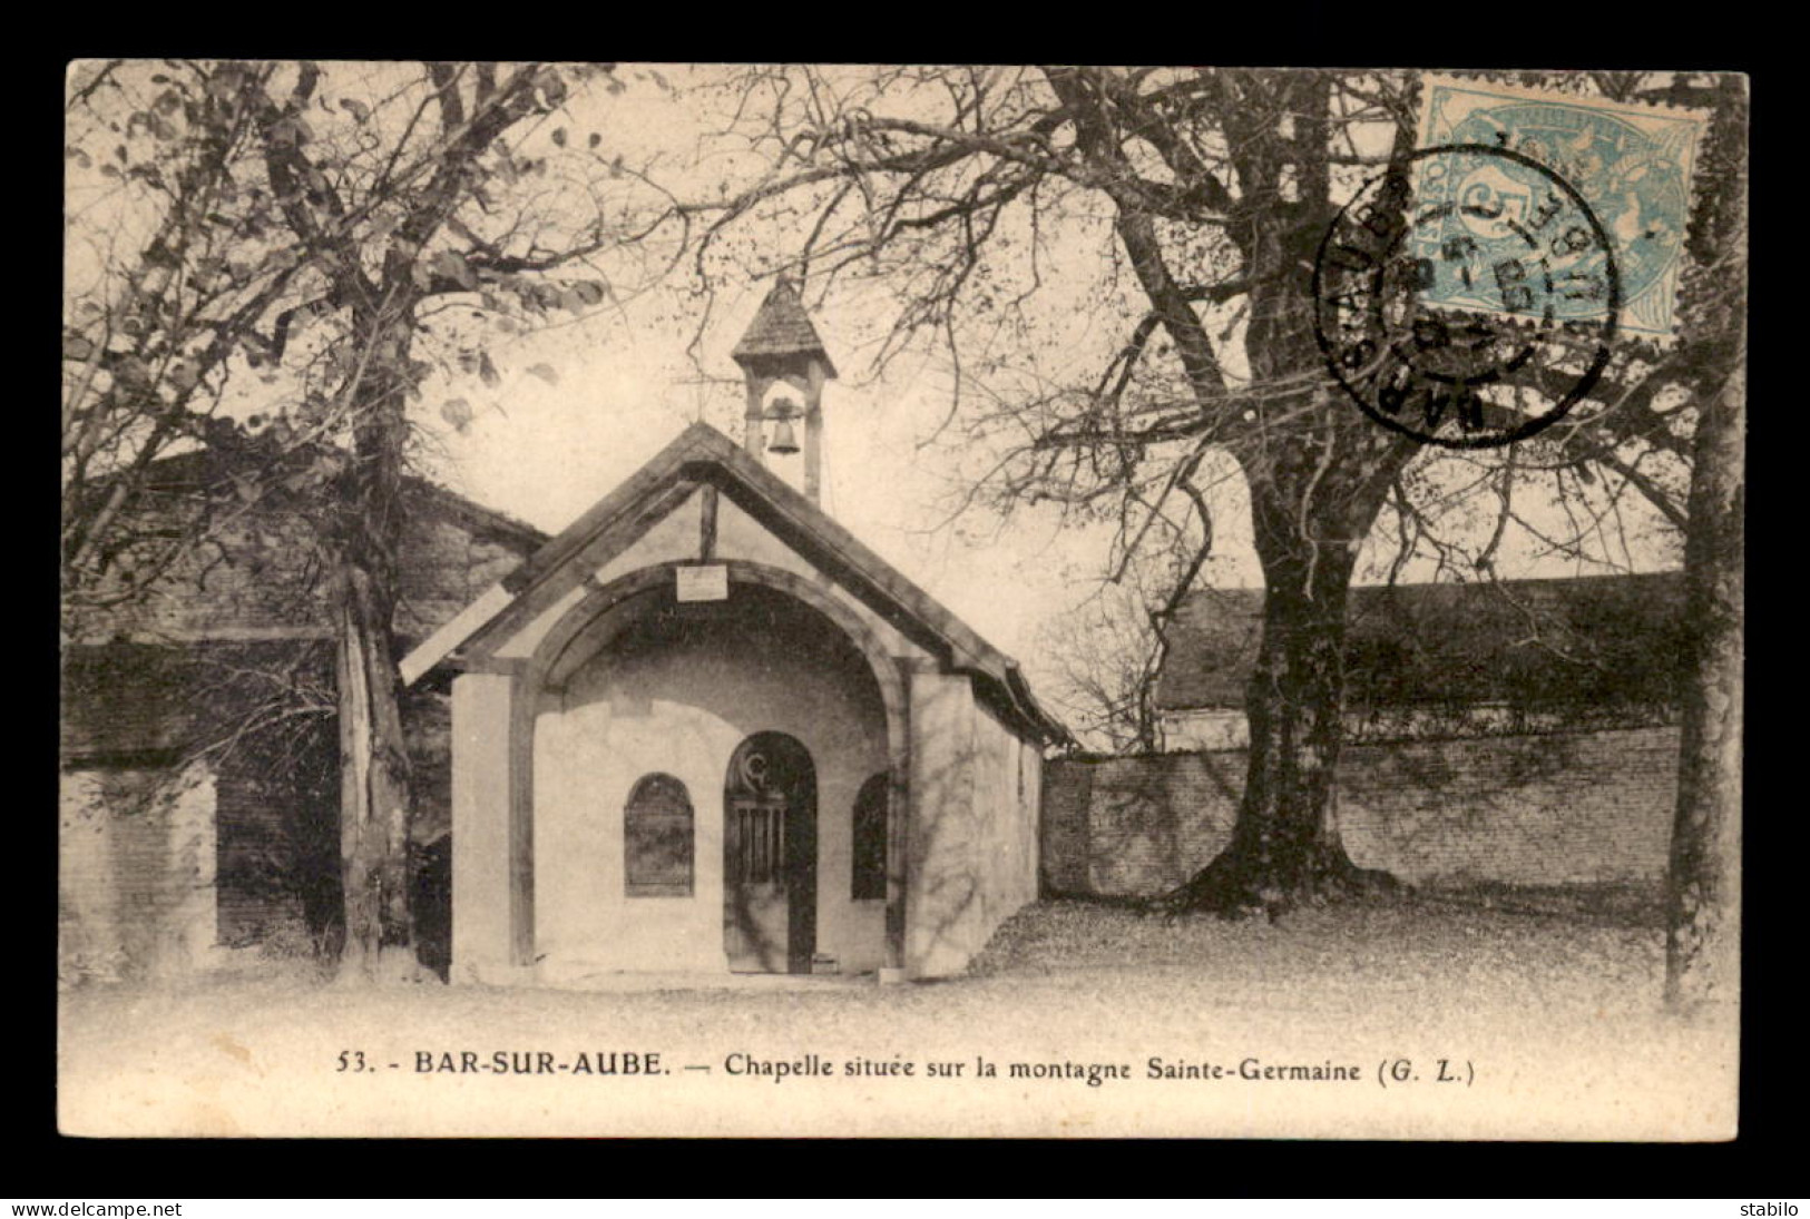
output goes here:
[[76, 1134], [1734, 1132], [1736, 1035], [1662, 1013], [1647, 912], [1491, 904], [1271, 924], [1041, 902], [968, 977], [885, 987], [78, 987], [60, 1002], [60, 1118]]

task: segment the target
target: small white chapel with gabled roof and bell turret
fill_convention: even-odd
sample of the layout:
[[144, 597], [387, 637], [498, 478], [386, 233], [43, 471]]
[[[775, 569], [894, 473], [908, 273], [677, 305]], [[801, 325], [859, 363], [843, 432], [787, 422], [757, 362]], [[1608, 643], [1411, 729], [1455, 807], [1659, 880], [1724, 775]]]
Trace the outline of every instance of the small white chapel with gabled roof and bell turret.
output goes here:
[[402, 662], [452, 691], [454, 984], [945, 977], [1037, 897], [1066, 731], [820, 508], [793, 284], [733, 358], [740, 445], [693, 423]]

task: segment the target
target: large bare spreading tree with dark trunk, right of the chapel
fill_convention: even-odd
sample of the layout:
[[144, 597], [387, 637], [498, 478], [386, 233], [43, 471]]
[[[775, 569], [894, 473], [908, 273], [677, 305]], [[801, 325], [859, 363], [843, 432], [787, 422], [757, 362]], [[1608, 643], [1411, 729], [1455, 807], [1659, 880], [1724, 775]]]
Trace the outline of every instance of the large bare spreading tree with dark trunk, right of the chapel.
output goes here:
[[[1236, 461], [1267, 588], [1249, 772], [1231, 846], [1176, 908], [1392, 884], [1338, 836], [1341, 655], [1359, 546], [1392, 497], [1410, 519], [1421, 445], [1334, 383], [1312, 280], [1343, 203], [1410, 161], [1415, 87], [1397, 72], [760, 69], [731, 92], [766, 170], [691, 206], [706, 279], [728, 235], [767, 219], [802, 233], [767, 269], [816, 293], [851, 277], [894, 293], [876, 358], [943, 353], [950, 418], [988, 458], [976, 494], [1113, 521], [1115, 568], [1164, 530], [1205, 548], [1202, 459]], [[1540, 452], [1622, 467], [1620, 483], [1667, 499], [1643, 454], [1689, 436], [1651, 407], [1694, 387], [1700, 354], [1656, 365], [1618, 349]]]

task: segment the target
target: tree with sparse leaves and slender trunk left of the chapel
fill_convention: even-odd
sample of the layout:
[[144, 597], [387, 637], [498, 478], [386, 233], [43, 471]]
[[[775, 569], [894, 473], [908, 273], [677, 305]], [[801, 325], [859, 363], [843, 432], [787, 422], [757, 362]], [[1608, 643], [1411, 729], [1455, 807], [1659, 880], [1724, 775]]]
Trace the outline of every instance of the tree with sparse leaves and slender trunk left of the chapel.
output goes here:
[[[138, 595], [206, 535], [130, 512], [206, 447], [226, 503], [311, 523], [337, 637], [342, 977], [416, 973], [395, 610], [409, 403], [498, 378], [487, 342], [623, 293], [603, 259], [664, 215], [568, 101], [608, 69], [78, 63], [65, 295], [65, 606]], [[612, 174], [614, 168], [614, 174]], [[628, 201], [624, 203], [624, 197]], [[463, 400], [442, 414], [471, 418]]]

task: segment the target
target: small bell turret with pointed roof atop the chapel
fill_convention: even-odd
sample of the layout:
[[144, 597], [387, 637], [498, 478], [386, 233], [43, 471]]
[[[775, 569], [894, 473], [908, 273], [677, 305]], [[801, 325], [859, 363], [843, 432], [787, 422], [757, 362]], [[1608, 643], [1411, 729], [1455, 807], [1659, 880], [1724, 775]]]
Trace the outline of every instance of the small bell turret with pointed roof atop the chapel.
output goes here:
[[[804, 311], [798, 286], [780, 277], [767, 298], [760, 302], [748, 333], [735, 344], [729, 356], [742, 365], [748, 383], [748, 411], [742, 447], [757, 461], [767, 452], [798, 452], [793, 420], [804, 420], [804, 494], [811, 503], [822, 501], [824, 479], [824, 382], [836, 376], [836, 365], [824, 351], [824, 340]], [[791, 398], [775, 398], [767, 405], [767, 391], [789, 385], [804, 398], [800, 407]], [[767, 439], [762, 423], [773, 423]]]

